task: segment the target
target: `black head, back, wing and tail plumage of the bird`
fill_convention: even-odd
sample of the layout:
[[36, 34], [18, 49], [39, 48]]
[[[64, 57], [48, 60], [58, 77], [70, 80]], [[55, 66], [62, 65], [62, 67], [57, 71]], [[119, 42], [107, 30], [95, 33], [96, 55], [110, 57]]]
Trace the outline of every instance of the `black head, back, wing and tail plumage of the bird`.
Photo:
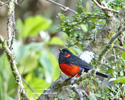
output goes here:
[[[66, 57], [68, 54], [70, 54], [69, 57]], [[79, 57], [75, 56], [72, 52], [70, 52], [68, 49], [60, 49], [60, 55], [59, 55], [59, 64], [65, 62], [65, 64], [68, 65], [76, 65], [79, 66], [81, 69], [84, 69], [85, 72], [88, 72], [88, 70], [92, 69], [93, 67], [88, 64], [86, 61], [83, 61]], [[81, 70], [82, 71], [82, 70]], [[97, 75], [102, 76], [107, 78], [108, 75], [101, 73], [101, 72], [96, 72]]]

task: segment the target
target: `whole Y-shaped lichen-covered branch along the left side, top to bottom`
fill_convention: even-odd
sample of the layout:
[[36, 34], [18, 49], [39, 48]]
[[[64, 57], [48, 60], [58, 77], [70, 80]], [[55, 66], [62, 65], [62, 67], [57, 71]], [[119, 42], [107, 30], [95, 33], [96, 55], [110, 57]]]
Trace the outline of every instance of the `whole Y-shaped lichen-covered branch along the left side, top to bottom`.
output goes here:
[[[17, 84], [17, 99], [18, 100], [28, 100], [27, 98], [27, 94], [25, 92], [23, 83], [22, 83], [22, 79], [21, 79], [21, 75], [18, 72], [17, 66], [16, 66], [16, 61], [15, 61], [15, 57], [14, 57], [14, 53], [13, 53], [13, 41], [15, 39], [15, 3], [17, 0], [8, 0], [6, 3], [8, 4], [8, 23], [7, 23], [7, 29], [8, 29], [8, 40], [6, 43], [6, 40], [4, 40], [2, 38], [2, 36], [0, 36], [0, 43], [2, 44], [2, 47], [4, 49], [4, 51], [7, 54], [10, 66], [11, 66], [11, 70], [12, 73], [15, 77], [15, 81]], [[3, 3], [0, 1], [0, 3]]]

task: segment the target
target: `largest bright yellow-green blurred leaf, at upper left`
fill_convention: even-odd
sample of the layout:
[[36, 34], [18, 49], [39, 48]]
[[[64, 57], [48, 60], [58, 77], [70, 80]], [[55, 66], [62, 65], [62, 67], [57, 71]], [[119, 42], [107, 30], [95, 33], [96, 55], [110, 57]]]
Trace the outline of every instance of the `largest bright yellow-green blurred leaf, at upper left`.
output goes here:
[[45, 31], [51, 25], [51, 20], [43, 18], [42, 16], [29, 17], [24, 21], [24, 27], [21, 37], [32, 37], [39, 34], [39, 31]]

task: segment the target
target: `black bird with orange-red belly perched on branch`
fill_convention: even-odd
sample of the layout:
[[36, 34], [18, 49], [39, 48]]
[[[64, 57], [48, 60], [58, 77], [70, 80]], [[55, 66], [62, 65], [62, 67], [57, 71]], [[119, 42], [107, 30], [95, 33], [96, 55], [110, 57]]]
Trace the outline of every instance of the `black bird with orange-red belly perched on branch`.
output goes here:
[[[86, 61], [82, 60], [78, 56], [75, 56], [70, 50], [67, 48], [59, 49], [59, 67], [61, 71], [69, 76], [72, 77], [79, 77], [81, 75], [81, 72], [84, 70], [84, 72], [88, 72], [93, 67], [88, 64]], [[102, 76], [104, 78], [107, 78], [108, 75], [101, 73], [99, 71], [96, 72], [96, 75]]]

